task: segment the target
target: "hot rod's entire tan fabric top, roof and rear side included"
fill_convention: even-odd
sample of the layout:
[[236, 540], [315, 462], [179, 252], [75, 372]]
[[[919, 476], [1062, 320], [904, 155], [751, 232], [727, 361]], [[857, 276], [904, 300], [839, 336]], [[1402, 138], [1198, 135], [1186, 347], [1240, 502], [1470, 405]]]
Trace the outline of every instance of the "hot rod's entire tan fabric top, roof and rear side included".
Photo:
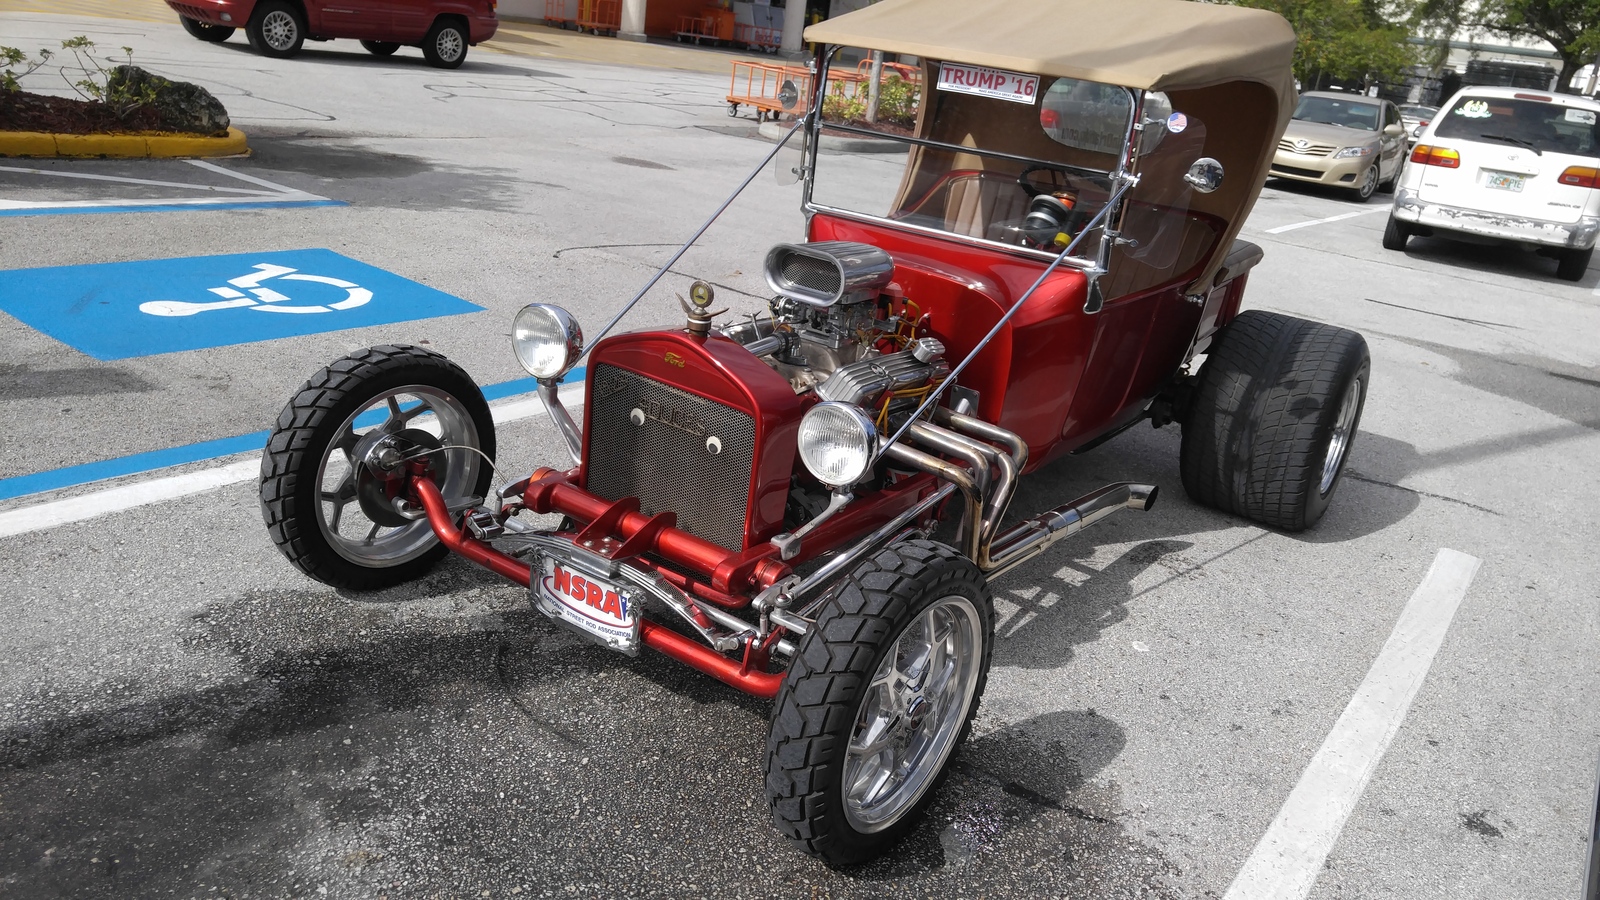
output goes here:
[[1254, 207], [1296, 101], [1290, 24], [1277, 13], [1221, 3], [882, 0], [818, 22], [805, 38], [920, 56], [925, 64], [965, 62], [1166, 93], [1174, 109], [1206, 125], [1205, 152], [1229, 175], [1221, 191], [1190, 199], [1192, 211], [1227, 223], [1192, 293], [1208, 290]]

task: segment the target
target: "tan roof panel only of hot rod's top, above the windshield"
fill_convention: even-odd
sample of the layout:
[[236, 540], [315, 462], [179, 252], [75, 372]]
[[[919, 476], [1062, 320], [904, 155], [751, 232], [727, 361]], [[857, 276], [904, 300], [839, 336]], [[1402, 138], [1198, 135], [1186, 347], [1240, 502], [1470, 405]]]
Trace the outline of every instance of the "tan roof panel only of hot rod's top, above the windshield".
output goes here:
[[805, 38], [1147, 91], [1259, 82], [1280, 107], [1294, 98], [1282, 16], [1192, 0], [882, 0]]

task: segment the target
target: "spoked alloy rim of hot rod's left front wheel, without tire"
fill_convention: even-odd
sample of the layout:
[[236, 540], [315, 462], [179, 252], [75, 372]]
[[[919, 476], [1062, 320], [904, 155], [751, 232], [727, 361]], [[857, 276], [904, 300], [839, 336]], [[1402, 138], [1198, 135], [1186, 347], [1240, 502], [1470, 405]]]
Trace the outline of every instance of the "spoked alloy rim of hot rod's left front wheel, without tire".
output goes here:
[[[427, 519], [398, 527], [378, 524], [366, 517], [357, 496], [357, 442], [371, 431], [397, 434], [403, 429], [426, 431], [445, 447], [482, 447], [467, 407], [426, 384], [387, 391], [346, 418], [317, 469], [322, 511], [317, 520], [328, 546], [358, 565], [398, 565], [434, 548]], [[443, 472], [440, 492], [446, 498], [470, 495], [483, 471], [483, 458], [459, 448], [443, 450], [438, 456], [438, 471]]]

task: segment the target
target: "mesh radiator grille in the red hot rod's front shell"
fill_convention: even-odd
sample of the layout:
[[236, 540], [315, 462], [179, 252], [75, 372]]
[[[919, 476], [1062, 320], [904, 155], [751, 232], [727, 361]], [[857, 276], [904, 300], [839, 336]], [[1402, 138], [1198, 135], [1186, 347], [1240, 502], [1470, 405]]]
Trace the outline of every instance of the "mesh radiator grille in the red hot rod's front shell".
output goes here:
[[[750, 416], [605, 364], [595, 365], [587, 416], [590, 493], [637, 496], [646, 516], [677, 512], [685, 532], [744, 546], [755, 460]], [[710, 437], [720, 453], [707, 450]]]

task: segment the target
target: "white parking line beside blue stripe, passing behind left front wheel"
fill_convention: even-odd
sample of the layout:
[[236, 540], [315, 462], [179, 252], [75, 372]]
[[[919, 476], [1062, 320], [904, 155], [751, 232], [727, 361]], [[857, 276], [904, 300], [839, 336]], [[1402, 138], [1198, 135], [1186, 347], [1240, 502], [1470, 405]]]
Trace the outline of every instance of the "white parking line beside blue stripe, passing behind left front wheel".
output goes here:
[[[571, 397], [562, 397], [562, 405], [582, 404], [582, 391], [573, 391], [571, 394]], [[542, 413], [544, 404], [538, 397], [507, 399], [499, 404], [490, 404], [490, 412], [494, 416], [494, 424], [506, 424]], [[85, 519], [123, 512], [138, 506], [149, 506], [150, 503], [205, 493], [218, 487], [253, 480], [259, 474], [261, 456], [251, 453], [248, 458], [197, 472], [166, 476], [96, 490], [83, 496], [69, 496], [50, 503], [35, 503], [21, 509], [8, 509], [0, 512], [0, 538], [43, 532], [56, 525], [83, 522]]]

